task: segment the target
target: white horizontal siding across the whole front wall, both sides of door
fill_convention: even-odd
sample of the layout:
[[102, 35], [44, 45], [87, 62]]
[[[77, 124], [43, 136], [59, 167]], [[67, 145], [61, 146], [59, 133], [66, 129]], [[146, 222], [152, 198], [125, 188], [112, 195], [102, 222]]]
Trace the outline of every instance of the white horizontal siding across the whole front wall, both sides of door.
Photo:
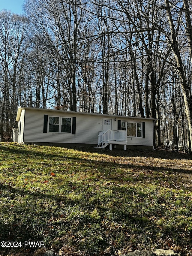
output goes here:
[[[41, 142], [41, 143], [79, 143], [79, 144], [97, 144], [99, 131], [103, 129], [103, 118], [108, 119], [109, 116], [105, 115], [88, 115], [84, 113], [62, 113], [60, 111], [48, 111], [48, 110], [32, 110], [26, 109], [25, 114], [25, 133], [24, 142]], [[47, 132], [43, 133], [44, 130], [44, 115], [48, 115], [49, 127], [49, 116], [57, 116], [59, 119], [76, 117], [76, 134], [68, 132]], [[115, 117], [112, 118], [113, 130], [117, 129], [117, 120]], [[118, 119], [118, 117], [116, 117]], [[132, 118], [122, 118], [119, 120], [125, 122], [134, 122]], [[127, 137], [128, 145], [146, 145], [153, 146], [153, 121], [146, 119], [137, 119], [137, 122], [145, 122], [146, 138], [140, 137]], [[135, 121], [136, 122], [136, 121]]]

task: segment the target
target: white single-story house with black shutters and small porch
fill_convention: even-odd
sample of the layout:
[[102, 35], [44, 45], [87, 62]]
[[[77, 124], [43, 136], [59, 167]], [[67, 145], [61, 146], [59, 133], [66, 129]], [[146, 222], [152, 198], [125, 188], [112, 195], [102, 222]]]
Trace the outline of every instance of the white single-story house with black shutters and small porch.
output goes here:
[[18, 107], [13, 142], [153, 149], [156, 119]]

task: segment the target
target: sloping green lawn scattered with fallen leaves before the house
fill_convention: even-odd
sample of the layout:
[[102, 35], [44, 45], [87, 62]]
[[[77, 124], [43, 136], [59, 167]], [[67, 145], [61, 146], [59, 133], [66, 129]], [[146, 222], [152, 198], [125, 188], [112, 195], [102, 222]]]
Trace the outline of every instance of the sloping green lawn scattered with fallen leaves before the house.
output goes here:
[[[0, 240], [61, 255], [191, 253], [191, 157], [0, 143]], [[1, 255], [44, 249], [1, 248]]]

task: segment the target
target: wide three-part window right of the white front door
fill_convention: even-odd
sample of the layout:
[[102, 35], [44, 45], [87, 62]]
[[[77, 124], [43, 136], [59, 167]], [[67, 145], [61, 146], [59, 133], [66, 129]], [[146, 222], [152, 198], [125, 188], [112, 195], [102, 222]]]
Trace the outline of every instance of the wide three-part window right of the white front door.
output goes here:
[[142, 137], [142, 123], [121, 122], [121, 130], [127, 131], [128, 137]]

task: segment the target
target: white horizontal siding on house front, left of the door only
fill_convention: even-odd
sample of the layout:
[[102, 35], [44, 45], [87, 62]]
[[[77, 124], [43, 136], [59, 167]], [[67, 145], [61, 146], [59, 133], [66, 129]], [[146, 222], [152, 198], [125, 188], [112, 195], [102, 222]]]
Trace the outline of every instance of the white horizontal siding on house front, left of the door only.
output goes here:
[[[67, 114], [61, 112], [49, 113], [48, 111], [26, 110], [25, 138], [26, 142], [50, 142], [50, 143], [86, 143], [97, 144], [99, 131], [102, 131], [101, 116], [87, 116], [69, 113], [69, 118], [76, 117], [76, 134], [67, 132], [43, 133], [44, 115], [67, 118]], [[73, 115], [73, 116], [71, 116]], [[34, 122], [35, 120], [35, 122]], [[48, 118], [49, 126], [49, 118]]]

